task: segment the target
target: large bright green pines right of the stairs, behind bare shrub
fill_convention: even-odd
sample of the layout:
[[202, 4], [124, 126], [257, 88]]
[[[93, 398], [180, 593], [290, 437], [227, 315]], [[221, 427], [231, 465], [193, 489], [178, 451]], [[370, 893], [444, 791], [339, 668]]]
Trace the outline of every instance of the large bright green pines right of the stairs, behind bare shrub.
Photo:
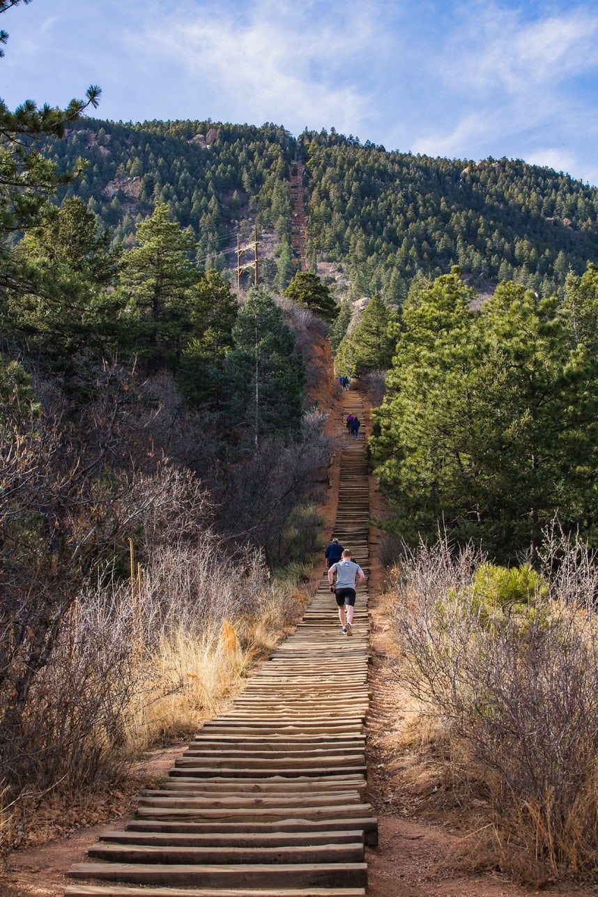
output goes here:
[[457, 272], [405, 302], [372, 440], [405, 536], [438, 521], [497, 557], [535, 550], [555, 512], [594, 529], [598, 365], [555, 299], [515, 283], [471, 308]]

